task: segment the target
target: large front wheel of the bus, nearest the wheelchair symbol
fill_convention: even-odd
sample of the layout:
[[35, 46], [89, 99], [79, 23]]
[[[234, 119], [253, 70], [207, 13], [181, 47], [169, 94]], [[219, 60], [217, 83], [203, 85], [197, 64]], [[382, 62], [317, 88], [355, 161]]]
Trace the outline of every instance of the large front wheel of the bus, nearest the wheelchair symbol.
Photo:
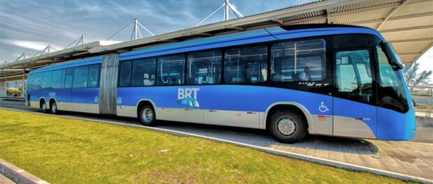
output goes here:
[[[304, 118], [293, 111], [279, 110], [272, 114], [268, 123], [270, 124], [267, 129], [270, 134], [282, 143], [295, 143], [302, 140], [307, 134]], [[295, 125], [294, 128], [293, 125]]]

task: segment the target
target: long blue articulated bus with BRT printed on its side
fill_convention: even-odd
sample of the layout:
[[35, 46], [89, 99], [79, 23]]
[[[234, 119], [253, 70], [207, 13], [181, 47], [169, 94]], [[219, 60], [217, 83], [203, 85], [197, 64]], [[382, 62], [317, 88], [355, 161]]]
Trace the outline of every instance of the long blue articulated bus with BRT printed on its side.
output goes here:
[[268, 130], [409, 140], [416, 132], [402, 62], [378, 31], [277, 26], [47, 66], [29, 73], [27, 105]]

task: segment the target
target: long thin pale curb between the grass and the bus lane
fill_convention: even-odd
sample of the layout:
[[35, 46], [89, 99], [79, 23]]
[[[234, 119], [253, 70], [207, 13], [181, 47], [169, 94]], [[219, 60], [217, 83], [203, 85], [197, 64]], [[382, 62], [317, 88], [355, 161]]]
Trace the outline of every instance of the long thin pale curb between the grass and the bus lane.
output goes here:
[[[38, 113], [38, 112], [33, 112], [33, 113], [42, 114], [42, 113]], [[145, 128], [148, 130], [154, 130], [154, 131], [158, 131], [158, 132], [168, 133], [170, 135], [190, 136], [190, 137], [198, 137], [198, 138], [202, 138], [202, 139], [210, 139], [212, 141], [234, 144], [236, 146], [242, 146], [242, 147], [247, 147], [247, 148], [253, 148], [253, 149], [256, 149], [258, 151], [264, 151], [266, 153], [271, 153], [274, 155], [281, 155], [281, 156], [285, 156], [288, 158], [295, 158], [298, 160], [314, 162], [314, 163], [318, 163], [318, 164], [328, 165], [331, 167], [348, 169], [348, 170], [352, 170], [352, 171], [366, 171], [366, 172], [381, 175], [381, 176], [388, 176], [391, 178], [399, 178], [399, 179], [402, 179], [404, 181], [416, 181], [416, 182], [420, 182], [420, 183], [432, 183], [433, 184], [433, 181], [429, 180], [427, 178], [420, 178], [420, 177], [416, 177], [416, 176], [410, 176], [407, 174], [399, 174], [399, 173], [395, 173], [392, 171], [374, 169], [371, 167], [364, 167], [364, 166], [360, 166], [360, 165], [356, 165], [356, 164], [348, 164], [345, 162], [338, 162], [335, 160], [328, 160], [328, 159], [324, 159], [324, 158], [316, 158], [316, 157], [312, 157], [312, 156], [308, 156], [308, 155], [301, 155], [298, 153], [292, 153], [292, 152], [288, 152], [288, 151], [279, 151], [279, 150], [276, 150], [273, 148], [256, 146], [256, 145], [252, 145], [252, 144], [245, 144], [242, 142], [230, 141], [227, 139], [221, 139], [221, 138], [217, 138], [217, 137], [209, 137], [209, 136], [205, 136], [205, 135], [196, 135], [196, 134], [189, 133], [189, 132], [181, 132], [181, 131], [177, 131], [177, 130], [168, 130], [168, 129], [164, 129], [164, 128], [146, 127], [146, 126], [142, 126], [142, 125], [118, 123], [115, 121], [105, 121], [105, 120], [98, 120], [98, 119], [94, 119], [94, 118], [79, 118], [79, 117], [73, 117], [73, 116], [62, 116], [62, 115], [52, 115], [52, 114], [42, 114], [42, 115], [57, 116], [57, 117], [61, 117], [61, 118], [74, 118], [74, 119], [80, 119], [80, 120], [85, 120], [85, 121], [96, 121], [96, 122], [101, 122], [101, 123], [108, 123], [108, 124], [112, 124], [112, 125], [122, 125], [122, 126], [128, 126], [128, 127], [133, 127], [133, 128]]]

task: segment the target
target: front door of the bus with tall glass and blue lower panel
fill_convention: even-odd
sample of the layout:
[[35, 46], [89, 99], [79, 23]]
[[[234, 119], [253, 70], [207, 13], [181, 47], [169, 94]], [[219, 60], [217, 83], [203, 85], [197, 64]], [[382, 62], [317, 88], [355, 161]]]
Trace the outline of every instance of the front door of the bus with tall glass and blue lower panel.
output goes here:
[[334, 52], [333, 135], [375, 138], [374, 61], [369, 47]]

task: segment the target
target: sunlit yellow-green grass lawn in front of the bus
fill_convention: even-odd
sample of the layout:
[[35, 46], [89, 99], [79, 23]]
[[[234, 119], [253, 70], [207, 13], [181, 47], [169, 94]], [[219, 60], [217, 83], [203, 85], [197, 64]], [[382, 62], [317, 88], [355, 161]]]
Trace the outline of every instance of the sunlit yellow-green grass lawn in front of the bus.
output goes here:
[[50, 183], [404, 183], [206, 139], [3, 109], [0, 158]]

